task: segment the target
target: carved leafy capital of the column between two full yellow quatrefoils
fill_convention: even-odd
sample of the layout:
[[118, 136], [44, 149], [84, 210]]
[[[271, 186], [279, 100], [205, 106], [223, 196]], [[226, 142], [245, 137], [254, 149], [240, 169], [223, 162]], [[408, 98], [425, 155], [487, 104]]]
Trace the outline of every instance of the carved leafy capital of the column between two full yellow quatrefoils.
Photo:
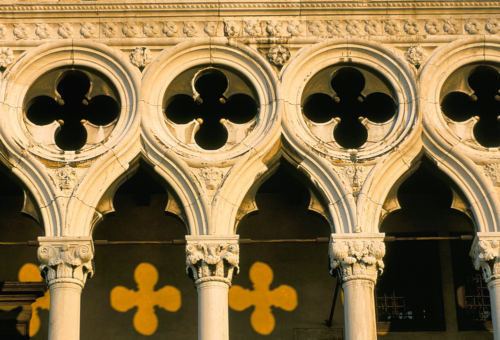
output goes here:
[[238, 236], [186, 236], [186, 273], [194, 285], [220, 281], [231, 286], [239, 272]]

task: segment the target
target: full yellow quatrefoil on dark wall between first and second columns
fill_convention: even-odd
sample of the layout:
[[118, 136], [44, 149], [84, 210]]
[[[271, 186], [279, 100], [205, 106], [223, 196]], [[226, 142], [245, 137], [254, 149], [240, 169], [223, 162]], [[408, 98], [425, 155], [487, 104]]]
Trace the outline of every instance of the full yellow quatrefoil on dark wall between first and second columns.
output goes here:
[[158, 328], [158, 318], [154, 307], [168, 312], [177, 312], [181, 306], [180, 291], [172, 286], [165, 286], [157, 291], [158, 271], [150, 263], [140, 263], [133, 272], [137, 291], [123, 286], [114, 287], [110, 293], [111, 307], [118, 312], [126, 312], [137, 307], [133, 316], [133, 328], [137, 333], [150, 336]]

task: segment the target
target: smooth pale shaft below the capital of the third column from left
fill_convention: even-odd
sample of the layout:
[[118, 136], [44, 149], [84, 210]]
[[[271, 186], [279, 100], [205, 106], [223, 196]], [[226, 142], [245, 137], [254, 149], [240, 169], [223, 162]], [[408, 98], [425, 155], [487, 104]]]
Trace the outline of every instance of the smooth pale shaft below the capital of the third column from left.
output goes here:
[[342, 289], [344, 292], [345, 339], [376, 339], [373, 282], [349, 280], [343, 283]]

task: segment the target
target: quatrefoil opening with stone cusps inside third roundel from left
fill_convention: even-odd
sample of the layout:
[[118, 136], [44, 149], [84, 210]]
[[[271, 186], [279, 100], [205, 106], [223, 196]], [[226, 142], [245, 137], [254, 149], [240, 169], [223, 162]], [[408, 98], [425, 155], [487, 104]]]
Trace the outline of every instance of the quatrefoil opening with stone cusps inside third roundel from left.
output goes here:
[[319, 139], [357, 149], [388, 133], [397, 111], [393, 92], [374, 71], [336, 65], [309, 80], [302, 94], [302, 113]]

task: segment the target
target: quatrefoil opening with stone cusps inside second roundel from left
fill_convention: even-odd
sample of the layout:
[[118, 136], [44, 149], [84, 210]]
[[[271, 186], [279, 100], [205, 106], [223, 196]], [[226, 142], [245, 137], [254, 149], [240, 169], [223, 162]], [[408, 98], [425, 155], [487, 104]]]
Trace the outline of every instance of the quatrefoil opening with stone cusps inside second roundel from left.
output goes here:
[[252, 85], [236, 71], [190, 69], [167, 88], [165, 123], [186, 144], [220, 149], [226, 143], [239, 142], [251, 131], [258, 113], [256, 98]]

